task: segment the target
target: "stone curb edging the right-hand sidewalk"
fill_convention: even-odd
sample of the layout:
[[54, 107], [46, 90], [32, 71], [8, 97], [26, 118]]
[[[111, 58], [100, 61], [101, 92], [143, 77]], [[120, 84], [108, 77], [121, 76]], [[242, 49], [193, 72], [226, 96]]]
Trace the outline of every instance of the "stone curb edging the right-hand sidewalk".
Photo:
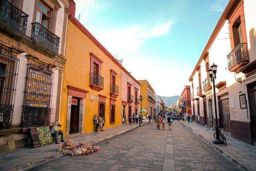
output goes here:
[[[189, 125], [186, 125], [185, 123], [183, 123], [183, 124], [186, 127], [188, 127], [189, 129], [193, 130], [192, 128], [189, 127]], [[244, 170], [244, 171], [253, 171], [250, 168], [248, 168], [244, 163], [236, 160], [235, 157], [233, 157], [232, 155], [228, 154], [226, 151], [221, 150], [221, 148], [219, 148], [219, 146], [213, 144], [209, 139], [206, 139], [204, 136], [202, 136], [196, 130], [193, 130], [193, 133], [195, 133], [197, 136], [201, 137], [201, 139], [204, 139], [207, 142], [208, 145], [211, 145], [216, 151], [220, 152], [222, 154], [222, 156], [224, 156], [227, 159], [229, 159], [231, 162], [233, 162], [233, 164], [237, 165], [242, 170]]]

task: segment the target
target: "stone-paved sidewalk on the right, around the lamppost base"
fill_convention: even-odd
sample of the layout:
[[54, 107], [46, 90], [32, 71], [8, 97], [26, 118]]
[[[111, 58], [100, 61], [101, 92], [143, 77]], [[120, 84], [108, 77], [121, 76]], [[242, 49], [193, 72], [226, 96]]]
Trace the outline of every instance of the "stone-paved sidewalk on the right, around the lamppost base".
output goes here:
[[224, 157], [230, 159], [241, 169], [256, 171], [256, 146], [241, 142], [227, 135], [225, 135], [227, 145], [215, 145], [212, 143], [214, 140], [213, 134], [215, 133], [212, 128], [201, 126], [195, 122], [190, 124], [183, 122], [183, 124], [191, 128], [195, 134], [206, 140], [209, 145], [212, 145]]

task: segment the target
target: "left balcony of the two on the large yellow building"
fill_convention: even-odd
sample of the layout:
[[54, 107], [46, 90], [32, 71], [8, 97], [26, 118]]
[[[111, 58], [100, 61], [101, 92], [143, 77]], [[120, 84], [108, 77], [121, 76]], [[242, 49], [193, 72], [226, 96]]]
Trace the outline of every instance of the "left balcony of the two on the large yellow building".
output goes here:
[[92, 90], [101, 91], [104, 89], [104, 78], [98, 74], [91, 72], [90, 73], [90, 87]]

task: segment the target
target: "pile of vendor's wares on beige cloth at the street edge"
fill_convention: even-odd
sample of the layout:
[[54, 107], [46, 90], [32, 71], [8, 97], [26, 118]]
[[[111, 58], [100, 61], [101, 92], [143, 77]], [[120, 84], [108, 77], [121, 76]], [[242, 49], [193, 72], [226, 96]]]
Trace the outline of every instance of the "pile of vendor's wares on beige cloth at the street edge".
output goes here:
[[64, 154], [70, 154], [72, 156], [77, 155], [89, 155], [93, 152], [99, 151], [100, 146], [96, 146], [93, 144], [84, 144], [83, 142], [73, 145], [73, 140], [68, 139], [67, 142], [61, 144], [59, 142], [58, 151], [62, 151]]

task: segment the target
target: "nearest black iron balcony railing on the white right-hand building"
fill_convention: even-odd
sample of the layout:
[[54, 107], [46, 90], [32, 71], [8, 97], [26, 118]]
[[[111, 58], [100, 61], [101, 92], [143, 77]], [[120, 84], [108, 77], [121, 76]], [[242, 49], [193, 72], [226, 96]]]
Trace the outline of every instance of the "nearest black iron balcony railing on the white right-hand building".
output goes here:
[[231, 52], [227, 55], [228, 69], [233, 67], [236, 63], [242, 59], [249, 59], [247, 54], [247, 43], [239, 43]]

